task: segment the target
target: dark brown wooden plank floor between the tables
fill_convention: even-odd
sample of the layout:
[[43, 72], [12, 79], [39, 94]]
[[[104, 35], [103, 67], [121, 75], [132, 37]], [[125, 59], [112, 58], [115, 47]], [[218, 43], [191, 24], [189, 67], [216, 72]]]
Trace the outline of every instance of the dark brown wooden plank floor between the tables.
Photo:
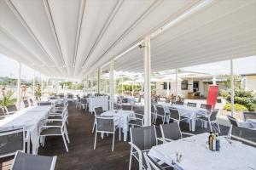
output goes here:
[[[128, 169], [130, 145], [127, 142], [119, 141], [118, 133], [116, 134], [113, 152], [111, 151], [112, 135], [104, 139], [98, 137], [96, 150], [93, 150], [95, 135], [91, 133], [91, 130], [94, 116], [84, 110], [77, 110], [72, 103], [68, 106], [68, 112], [68, 133], [71, 141], [68, 144], [69, 152], [66, 152], [61, 137], [49, 137], [46, 139], [44, 148], [39, 149], [39, 155], [58, 156], [55, 169], [61, 170]], [[143, 110], [136, 109], [136, 112], [143, 113]], [[157, 122], [158, 124], [159, 122]], [[195, 133], [207, 132], [207, 129], [200, 127], [200, 122], [197, 124]], [[181, 128], [182, 131], [189, 132], [187, 123], [181, 123]], [[221, 127], [221, 129], [223, 134], [228, 132], [228, 127]], [[135, 160], [132, 161], [132, 169], [138, 169]]]

